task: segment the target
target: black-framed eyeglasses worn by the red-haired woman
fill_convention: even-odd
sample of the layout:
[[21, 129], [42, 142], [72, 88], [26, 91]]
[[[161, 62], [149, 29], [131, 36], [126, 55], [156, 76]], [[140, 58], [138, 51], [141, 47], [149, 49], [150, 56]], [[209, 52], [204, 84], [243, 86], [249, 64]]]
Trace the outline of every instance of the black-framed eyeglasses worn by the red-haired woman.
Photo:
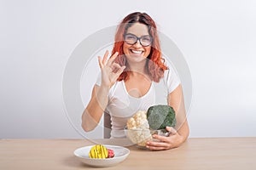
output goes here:
[[139, 40], [139, 42], [141, 43], [142, 46], [147, 47], [151, 44], [152, 42], [152, 37], [147, 35], [147, 36], [143, 36], [143, 37], [137, 37], [133, 34], [125, 34], [125, 42], [130, 44], [130, 45], [134, 45], [136, 44], [137, 40]]

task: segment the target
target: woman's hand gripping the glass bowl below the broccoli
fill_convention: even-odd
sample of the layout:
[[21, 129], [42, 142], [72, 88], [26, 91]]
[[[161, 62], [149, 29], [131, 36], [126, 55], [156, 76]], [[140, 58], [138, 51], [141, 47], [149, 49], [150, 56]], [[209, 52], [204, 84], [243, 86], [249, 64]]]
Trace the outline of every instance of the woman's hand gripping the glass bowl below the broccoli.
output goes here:
[[183, 136], [178, 134], [173, 127], [166, 127], [166, 130], [170, 132], [169, 136], [166, 137], [154, 134], [153, 138], [159, 141], [148, 141], [146, 147], [149, 150], [169, 150], [183, 143]]

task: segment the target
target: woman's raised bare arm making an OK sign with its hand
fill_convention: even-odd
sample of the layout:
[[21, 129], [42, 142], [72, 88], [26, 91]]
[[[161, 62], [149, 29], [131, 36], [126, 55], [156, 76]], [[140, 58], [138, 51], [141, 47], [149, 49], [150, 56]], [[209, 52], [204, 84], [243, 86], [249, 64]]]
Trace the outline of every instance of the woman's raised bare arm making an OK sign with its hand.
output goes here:
[[93, 88], [90, 102], [83, 112], [82, 127], [85, 132], [93, 130], [100, 122], [103, 111], [105, 111], [108, 105], [109, 89], [113, 86], [119, 75], [125, 69], [125, 66], [120, 66], [113, 62], [117, 56], [118, 53], [115, 53], [108, 59], [107, 51], [104, 54], [103, 59], [98, 57], [102, 72], [102, 82], [101, 86], [95, 85]]

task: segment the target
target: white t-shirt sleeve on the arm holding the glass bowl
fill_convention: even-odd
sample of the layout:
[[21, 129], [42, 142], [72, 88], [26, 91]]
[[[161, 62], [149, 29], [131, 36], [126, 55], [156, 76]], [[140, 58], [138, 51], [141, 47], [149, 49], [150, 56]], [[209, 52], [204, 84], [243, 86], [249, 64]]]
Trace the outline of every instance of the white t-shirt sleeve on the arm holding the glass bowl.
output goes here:
[[177, 72], [172, 68], [172, 66], [169, 66], [169, 69], [165, 71], [164, 80], [166, 82], [168, 94], [171, 94], [172, 91], [180, 84]]

